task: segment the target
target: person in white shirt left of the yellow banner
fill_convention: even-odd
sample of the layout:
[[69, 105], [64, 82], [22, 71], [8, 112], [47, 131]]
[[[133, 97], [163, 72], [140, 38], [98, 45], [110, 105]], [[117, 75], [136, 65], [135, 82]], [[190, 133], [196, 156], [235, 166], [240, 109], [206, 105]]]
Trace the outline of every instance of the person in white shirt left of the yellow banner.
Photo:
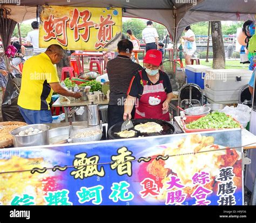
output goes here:
[[39, 48], [39, 23], [37, 21], [33, 21], [31, 23], [33, 31], [28, 33], [26, 37], [26, 45], [31, 46], [33, 45], [33, 55], [38, 55], [39, 53], [45, 52], [46, 49]]

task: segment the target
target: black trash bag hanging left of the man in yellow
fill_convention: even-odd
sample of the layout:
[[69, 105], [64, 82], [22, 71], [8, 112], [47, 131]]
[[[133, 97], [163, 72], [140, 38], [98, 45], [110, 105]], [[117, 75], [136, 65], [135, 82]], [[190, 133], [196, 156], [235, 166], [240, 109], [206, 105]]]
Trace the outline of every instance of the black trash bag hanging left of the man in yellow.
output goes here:
[[3, 121], [24, 121], [19, 112], [18, 96], [21, 89], [21, 75], [9, 73], [4, 98], [2, 102]]

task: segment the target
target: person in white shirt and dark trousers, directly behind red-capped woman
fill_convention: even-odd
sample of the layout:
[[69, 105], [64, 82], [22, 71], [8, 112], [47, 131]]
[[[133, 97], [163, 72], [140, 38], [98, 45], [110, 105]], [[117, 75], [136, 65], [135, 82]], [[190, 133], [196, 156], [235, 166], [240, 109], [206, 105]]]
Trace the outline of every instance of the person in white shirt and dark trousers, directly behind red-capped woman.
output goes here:
[[157, 50], [158, 33], [156, 28], [153, 28], [152, 21], [147, 21], [147, 27], [142, 31], [142, 39], [146, 44], [146, 51]]

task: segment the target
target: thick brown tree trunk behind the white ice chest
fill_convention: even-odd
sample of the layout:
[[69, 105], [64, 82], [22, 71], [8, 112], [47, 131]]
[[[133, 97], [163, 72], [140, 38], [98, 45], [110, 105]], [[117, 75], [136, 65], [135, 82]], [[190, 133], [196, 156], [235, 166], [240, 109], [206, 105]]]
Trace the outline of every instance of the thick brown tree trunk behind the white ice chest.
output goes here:
[[211, 22], [213, 69], [225, 69], [225, 50], [220, 21]]

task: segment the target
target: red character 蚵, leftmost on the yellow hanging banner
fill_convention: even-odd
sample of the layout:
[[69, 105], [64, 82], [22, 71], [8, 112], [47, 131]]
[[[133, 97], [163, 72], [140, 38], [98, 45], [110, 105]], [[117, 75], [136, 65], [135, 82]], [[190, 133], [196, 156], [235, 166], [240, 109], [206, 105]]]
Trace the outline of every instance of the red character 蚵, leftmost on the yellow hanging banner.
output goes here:
[[[66, 36], [66, 23], [68, 21], [68, 16], [53, 18], [53, 15], [50, 15], [49, 19], [44, 21], [44, 31], [46, 32], [44, 40], [49, 41], [51, 39], [56, 39], [60, 44], [67, 46], [68, 38]], [[62, 38], [59, 38], [59, 36], [62, 36]]]

